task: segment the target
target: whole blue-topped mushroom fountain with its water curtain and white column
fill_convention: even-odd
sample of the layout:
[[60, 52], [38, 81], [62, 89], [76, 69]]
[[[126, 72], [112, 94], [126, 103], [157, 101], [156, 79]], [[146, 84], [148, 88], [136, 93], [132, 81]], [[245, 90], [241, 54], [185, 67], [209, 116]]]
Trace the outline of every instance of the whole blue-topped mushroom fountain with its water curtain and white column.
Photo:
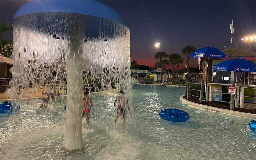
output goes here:
[[82, 86], [100, 91], [115, 83], [130, 88], [130, 31], [125, 20], [98, 1], [32, 0], [13, 18], [13, 43], [13, 92], [18, 86], [66, 86], [63, 147], [82, 148]]

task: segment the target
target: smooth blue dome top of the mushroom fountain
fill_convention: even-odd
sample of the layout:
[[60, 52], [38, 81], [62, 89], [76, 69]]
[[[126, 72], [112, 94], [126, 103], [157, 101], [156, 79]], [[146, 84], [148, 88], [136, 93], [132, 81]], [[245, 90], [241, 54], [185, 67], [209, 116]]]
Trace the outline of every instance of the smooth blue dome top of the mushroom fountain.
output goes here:
[[21, 15], [45, 12], [64, 12], [90, 15], [118, 22], [128, 27], [124, 18], [111, 7], [96, 0], [33, 0], [21, 6], [14, 18]]

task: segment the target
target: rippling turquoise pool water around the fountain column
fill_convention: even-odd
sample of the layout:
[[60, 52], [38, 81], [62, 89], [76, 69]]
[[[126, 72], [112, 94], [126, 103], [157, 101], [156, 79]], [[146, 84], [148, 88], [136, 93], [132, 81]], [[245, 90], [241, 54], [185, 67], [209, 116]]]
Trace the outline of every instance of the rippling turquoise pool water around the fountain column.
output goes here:
[[[256, 134], [251, 119], [195, 109], [180, 102], [184, 88], [133, 86], [132, 115], [114, 123], [117, 93], [92, 96], [91, 125], [83, 119], [84, 149], [62, 149], [65, 99], [47, 109], [24, 102], [17, 114], [0, 115], [0, 159], [92, 160], [255, 160]], [[188, 112], [184, 123], [159, 117], [162, 108]]]

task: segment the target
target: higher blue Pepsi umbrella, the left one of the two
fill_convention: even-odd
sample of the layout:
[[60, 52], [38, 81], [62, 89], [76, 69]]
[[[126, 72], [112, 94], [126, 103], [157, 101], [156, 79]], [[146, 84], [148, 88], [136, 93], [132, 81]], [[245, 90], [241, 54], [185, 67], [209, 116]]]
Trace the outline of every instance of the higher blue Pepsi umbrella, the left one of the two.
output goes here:
[[221, 50], [214, 48], [212, 46], [200, 48], [193, 53], [191, 53], [191, 58], [199, 58], [199, 57], [211, 57], [211, 58], [225, 58], [227, 55], [223, 53]]

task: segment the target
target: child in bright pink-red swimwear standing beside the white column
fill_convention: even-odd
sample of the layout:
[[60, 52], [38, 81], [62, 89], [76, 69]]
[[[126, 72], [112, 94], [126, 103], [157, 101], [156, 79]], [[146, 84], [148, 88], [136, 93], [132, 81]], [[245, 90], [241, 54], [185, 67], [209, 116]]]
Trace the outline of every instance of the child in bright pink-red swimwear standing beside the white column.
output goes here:
[[89, 92], [86, 91], [84, 93], [84, 98], [83, 98], [83, 116], [86, 115], [87, 124], [90, 124], [90, 110], [91, 110], [91, 107], [92, 107], [92, 99], [89, 97]]

